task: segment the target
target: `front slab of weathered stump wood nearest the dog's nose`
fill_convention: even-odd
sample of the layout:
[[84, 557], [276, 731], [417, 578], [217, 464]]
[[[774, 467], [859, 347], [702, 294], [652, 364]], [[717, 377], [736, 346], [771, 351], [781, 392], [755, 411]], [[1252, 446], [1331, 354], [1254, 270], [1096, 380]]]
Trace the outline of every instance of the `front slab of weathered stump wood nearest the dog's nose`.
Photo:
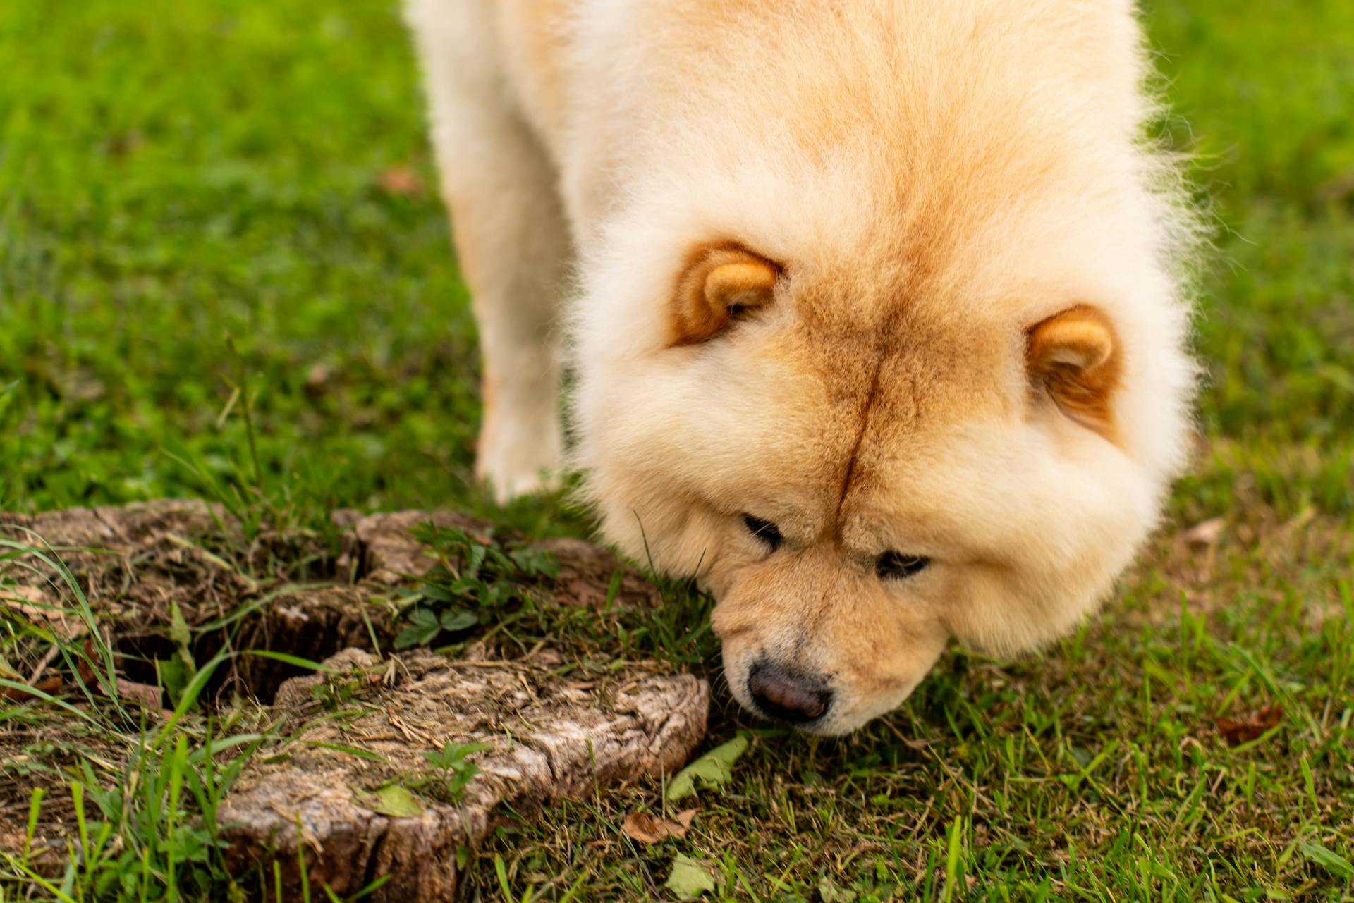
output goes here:
[[[547, 655], [448, 662], [420, 653], [391, 666], [345, 650], [326, 665], [334, 674], [278, 692], [288, 728], [307, 728], [309, 746], [246, 769], [221, 811], [232, 862], [276, 861], [284, 899], [299, 898], [299, 837], [313, 885], [353, 894], [390, 875], [374, 900], [451, 900], [458, 850], [489, 834], [501, 803], [523, 814], [670, 773], [704, 735], [709, 707], [707, 685], [689, 674], [630, 666], [569, 681], [551, 674], [558, 659]], [[360, 689], [345, 708], [356, 713], [334, 718], [332, 688], [349, 681]], [[439, 799], [441, 778], [424, 755], [448, 742], [489, 747], [473, 757], [479, 774], [456, 800]], [[397, 793], [398, 814], [391, 787], [412, 788]]]

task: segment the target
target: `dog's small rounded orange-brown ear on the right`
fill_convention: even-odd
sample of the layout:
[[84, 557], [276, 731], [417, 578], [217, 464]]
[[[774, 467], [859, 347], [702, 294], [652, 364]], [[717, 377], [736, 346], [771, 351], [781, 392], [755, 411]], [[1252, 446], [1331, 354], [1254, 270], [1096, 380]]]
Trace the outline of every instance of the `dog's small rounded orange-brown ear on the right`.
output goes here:
[[1116, 441], [1112, 402], [1124, 361], [1114, 325], [1102, 310], [1078, 305], [1030, 326], [1025, 364], [1034, 387], [1064, 414]]

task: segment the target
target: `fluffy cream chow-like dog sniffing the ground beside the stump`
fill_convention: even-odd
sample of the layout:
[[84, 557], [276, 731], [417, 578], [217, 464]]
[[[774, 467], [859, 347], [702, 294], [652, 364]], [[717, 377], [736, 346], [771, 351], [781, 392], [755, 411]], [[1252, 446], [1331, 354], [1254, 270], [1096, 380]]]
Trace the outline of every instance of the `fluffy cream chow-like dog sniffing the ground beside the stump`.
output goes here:
[[[1190, 218], [1127, 0], [412, 0], [483, 349], [479, 474], [577, 462], [839, 734], [1045, 643], [1186, 458]], [[562, 287], [581, 286], [562, 313]]]

